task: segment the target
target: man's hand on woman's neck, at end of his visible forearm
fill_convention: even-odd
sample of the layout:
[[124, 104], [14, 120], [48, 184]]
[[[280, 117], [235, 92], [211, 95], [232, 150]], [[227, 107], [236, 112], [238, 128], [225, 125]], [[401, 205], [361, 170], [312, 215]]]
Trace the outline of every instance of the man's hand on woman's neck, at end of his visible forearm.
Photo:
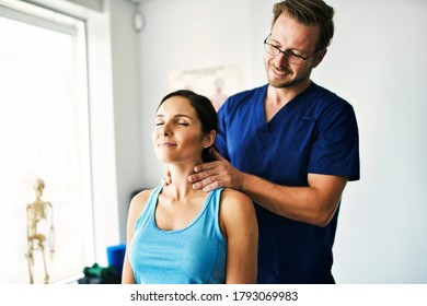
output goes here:
[[196, 165], [194, 167], [195, 174], [188, 177], [188, 180], [193, 183], [193, 188], [204, 191], [220, 187], [241, 190], [243, 174], [214, 149], [211, 149], [211, 153], [217, 161]]

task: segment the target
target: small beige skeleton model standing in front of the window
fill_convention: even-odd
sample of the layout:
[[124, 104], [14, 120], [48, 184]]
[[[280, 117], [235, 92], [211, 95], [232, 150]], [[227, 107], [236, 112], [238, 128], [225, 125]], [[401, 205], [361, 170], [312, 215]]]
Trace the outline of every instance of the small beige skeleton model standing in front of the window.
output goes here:
[[37, 178], [34, 181], [34, 189], [36, 193], [36, 199], [33, 203], [26, 207], [26, 238], [27, 238], [27, 249], [26, 249], [26, 260], [28, 262], [30, 270], [30, 283], [34, 283], [34, 251], [39, 250], [43, 257], [43, 266], [45, 271], [44, 283], [49, 282], [49, 274], [47, 273], [46, 257], [45, 257], [45, 240], [46, 236], [42, 234], [43, 232], [48, 235], [48, 244], [50, 247], [50, 256], [54, 255], [54, 223], [53, 223], [53, 210], [49, 202], [44, 202], [42, 200], [43, 189], [45, 188], [45, 183]]

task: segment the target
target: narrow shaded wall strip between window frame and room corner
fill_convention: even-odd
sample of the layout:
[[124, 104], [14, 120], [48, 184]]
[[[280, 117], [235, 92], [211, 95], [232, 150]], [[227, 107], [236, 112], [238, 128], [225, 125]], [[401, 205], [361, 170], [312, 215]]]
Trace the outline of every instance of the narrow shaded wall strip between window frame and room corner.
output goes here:
[[[139, 99], [139, 45], [134, 31], [136, 7], [124, 0], [105, 2], [111, 15], [117, 209], [122, 243], [130, 195], [141, 184], [141, 122]], [[119, 242], [117, 242], [119, 243]]]

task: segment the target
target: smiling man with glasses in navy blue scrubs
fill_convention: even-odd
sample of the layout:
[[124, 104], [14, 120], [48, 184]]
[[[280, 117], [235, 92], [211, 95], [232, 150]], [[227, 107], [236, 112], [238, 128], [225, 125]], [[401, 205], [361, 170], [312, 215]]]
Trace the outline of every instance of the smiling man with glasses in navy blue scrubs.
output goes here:
[[255, 202], [258, 283], [334, 283], [338, 209], [359, 179], [359, 141], [350, 104], [311, 81], [334, 33], [322, 0], [274, 5], [266, 35], [268, 84], [219, 109], [216, 162], [197, 165], [194, 188], [231, 187]]

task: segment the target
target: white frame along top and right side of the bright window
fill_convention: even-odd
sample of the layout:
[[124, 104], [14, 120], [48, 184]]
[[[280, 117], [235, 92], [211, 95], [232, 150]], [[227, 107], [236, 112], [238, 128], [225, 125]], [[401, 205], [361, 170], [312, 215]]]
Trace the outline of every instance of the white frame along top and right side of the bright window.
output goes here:
[[[54, 11], [50, 12], [51, 20], [56, 20], [58, 14], [64, 13], [65, 17], [69, 14], [81, 19], [86, 26], [86, 40], [83, 39], [81, 43], [88, 46], [88, 62], [82, 62], [82, 64], [88, 64], [86, 81], [90, 86], [89, 92], [81, 92], [81, 95], [89, 97], [90, 101], [90, 134], [88, 137], [90, 137], [92, 157], [92, 164], [89, 167], [92, 170], [92, 181], [88, 183], [88, 188], [92, 188], [93, 204], [91, 208], [93, 224], [86, 229], [93, 237], [93, 261], [106, 266], [106, 247], [119, 243], [109, 15], [106, 12], [89, 10], [65, 0], [34, 0], [32, 2], [42, 5], [37, 10]], [[28, 3], [0, 0], [0, 4], [15, 9], [15, 5], [22, 4], [24, 8]], [[64, 282], [72, 279], [76, 276], [70, 275]]]

